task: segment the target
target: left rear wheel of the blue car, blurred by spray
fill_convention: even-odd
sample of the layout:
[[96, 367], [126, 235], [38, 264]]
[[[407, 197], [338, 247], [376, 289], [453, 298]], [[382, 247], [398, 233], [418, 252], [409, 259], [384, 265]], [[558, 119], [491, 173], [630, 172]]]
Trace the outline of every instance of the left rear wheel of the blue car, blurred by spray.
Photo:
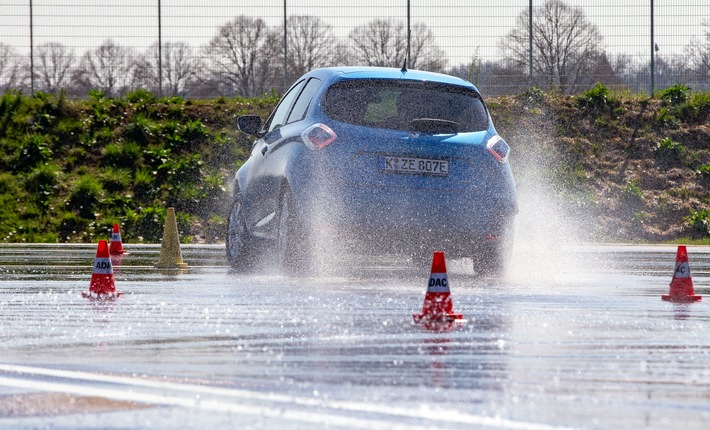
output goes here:
[[276, 261], [282, 272], [299, 274], [305, 270], [305, 244], [291, 193], [285, 191], [279, 202]]

